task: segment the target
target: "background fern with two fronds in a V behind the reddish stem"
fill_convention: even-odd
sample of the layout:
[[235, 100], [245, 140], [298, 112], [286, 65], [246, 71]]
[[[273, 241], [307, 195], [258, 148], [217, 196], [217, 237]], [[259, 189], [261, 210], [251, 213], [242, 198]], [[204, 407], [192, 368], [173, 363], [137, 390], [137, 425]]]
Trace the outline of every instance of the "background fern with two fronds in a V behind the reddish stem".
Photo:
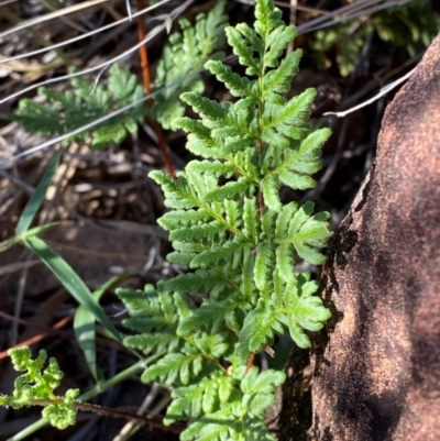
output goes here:
[[[200, 78], [205, 62], [223, 57], [220, 48], [224, 45], [227, 20], [224, 1], [219, 1], [209, 13], [198, 14], [194, 26], [188, 20], [180, 19], [182, 33], [169, 36], [157, 67], [156, 98], [151, 109], [152, 117], [165, 129], [169, 129], [174, 118], [184, 114], [185, 108], [178, 99], [183, 91], [205, 90]], [[91, 139], [96, 148], [119, 145], [144, 121], [147, 109], [140, 103], [144, 96], [143, 87], [134, 75], [118, 64], [110, 68], [106, 86], [81, 77], [72, 78], [70, 86], [66, 91], [41, 87], [35, 99], [20, 100], [19, 110], [8, 117], [21, 122], [29, 132], [62, 135], [133, 104], [94, 130], [84, 130], [65, 141]]]

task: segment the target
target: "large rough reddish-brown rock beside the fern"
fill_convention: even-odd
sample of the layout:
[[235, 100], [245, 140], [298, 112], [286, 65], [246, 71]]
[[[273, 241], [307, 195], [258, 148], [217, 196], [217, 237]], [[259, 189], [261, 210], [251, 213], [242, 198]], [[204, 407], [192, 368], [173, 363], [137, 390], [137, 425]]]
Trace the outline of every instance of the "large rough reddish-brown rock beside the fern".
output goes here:
[[440, 440], [440, 35], [383, 119], [329, 247], [336, 308], [315, 354], [312, 437]]

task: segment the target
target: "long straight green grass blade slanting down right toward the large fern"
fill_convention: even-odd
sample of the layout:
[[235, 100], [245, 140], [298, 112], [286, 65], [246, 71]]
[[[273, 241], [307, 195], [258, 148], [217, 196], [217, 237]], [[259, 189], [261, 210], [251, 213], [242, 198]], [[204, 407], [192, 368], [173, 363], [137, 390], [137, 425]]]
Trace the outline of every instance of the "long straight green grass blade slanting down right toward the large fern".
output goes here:
[[113, 323], [107, 317], [100, 305], [91, 295], [89, 288], [78, 277], [74, 269], [56, 254], [44, 241], [38, 238], [28, 238], [24, 243], [43, 261], [43, 263], [52, 271], [64, 287], [84, 305], [112, 335], [122, 343], [122, 337], [114, 328]]

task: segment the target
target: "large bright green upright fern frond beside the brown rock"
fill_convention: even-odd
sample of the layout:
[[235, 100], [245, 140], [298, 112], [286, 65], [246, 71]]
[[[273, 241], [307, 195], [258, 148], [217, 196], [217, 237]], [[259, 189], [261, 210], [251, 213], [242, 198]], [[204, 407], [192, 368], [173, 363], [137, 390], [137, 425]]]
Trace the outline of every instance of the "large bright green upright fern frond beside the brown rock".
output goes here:
[[127, 345], [163, 354], [142, 379], [173, 388], [165, 423], [193, 422], [182, 440], [274, 440], [265, 411], [285, 375], [258, 372], [248, 361], [286, 329], [308, 348], [305, 331], [318, 331], [330, 317], [315, 295], [318, 284], [295, 272], [295, 255], [323, 263], [328, 213], [279, 197], [282, 186], [314, 187], [330, 131], [307, 123], [314, 89], [283, 97], [300, 51], [278, 58], [295, 27], [271, 0], [256, 2], [255, 16], [254, 29], [226, 30], [246, 77], [218, 60], [205, 65], [238, 100], [182, 95], [200, 120], [178, 118], [174, 126], [188, 133], [188, 150], [204, 159], [190, 162], [177, 179], [150, 174], [172, 209], [158, 221], [175, 250], [167, 258], [193, 272], [145, 291], [118, 293], [131, 316], [124, 324], [138, 332]]

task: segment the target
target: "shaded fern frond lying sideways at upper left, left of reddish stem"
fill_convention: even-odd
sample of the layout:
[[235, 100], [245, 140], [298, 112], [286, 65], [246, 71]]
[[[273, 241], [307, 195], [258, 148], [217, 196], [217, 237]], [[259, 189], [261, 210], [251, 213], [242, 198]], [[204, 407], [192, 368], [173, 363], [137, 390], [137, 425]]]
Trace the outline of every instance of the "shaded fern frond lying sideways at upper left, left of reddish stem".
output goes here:
[[[43, 101], [22, 99], [19, 110], [9, 118], [20, 121], [29, 132], [44, 135], [62, 135], [107, 115], [111, 110], [139, 101], [143, 97], [142, 86], [134, 75], [114, 64], [109, 70], [108, 86], [80, 77], [70, 80], [72, 89], [56, 91], [40, 88]], [[85, 142], [91, 139], [96, 148], [118, 145], [128, 133], [134, 133], [143, 121], [144, 106], [139, 104], [130, 111], [98, 125], [94, 132], [84, 131], [65, 143]]]

